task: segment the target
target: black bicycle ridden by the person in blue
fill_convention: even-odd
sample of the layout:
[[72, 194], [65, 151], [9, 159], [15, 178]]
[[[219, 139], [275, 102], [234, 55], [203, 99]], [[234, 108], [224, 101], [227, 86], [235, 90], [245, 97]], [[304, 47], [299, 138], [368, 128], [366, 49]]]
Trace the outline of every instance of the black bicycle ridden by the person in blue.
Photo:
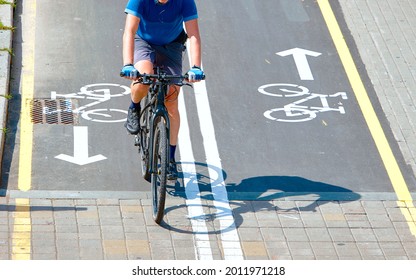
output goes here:
[[[123, 76], [122, 74], [120, 74]], [[183, 86], [188, 75], [168, 75], [161, 68], [155, 74], [138, 74], [137, 83], [150, 85], [147, 96], [141, 100], [140, 130], [134, 145], [141, 156], [142, 176], [151, 183], [152, 214], [160, 224], [165, 210], [167, 172], [169, 165], [170, 123], [165, 97], [170, 85]]]

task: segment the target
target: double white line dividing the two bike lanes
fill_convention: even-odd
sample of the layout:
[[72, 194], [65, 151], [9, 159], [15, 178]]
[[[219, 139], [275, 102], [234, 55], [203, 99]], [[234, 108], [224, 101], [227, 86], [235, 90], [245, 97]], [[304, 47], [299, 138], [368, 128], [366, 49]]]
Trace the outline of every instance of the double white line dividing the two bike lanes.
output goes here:
[[[189, 50], [189, 46], [188, 46]], [[203, 137], [203, 145], [206, 155], [206, 164], [209, 170], [213, 206], [216, 210], [221, 233], [221, 245], [224, 259], [244, 259], [240, 239], [235, 227], [234, 218], [228, 201], [222, 173], [221, 159], [215, 138], [214, 124], [211, 117], [207, 89], [205, 81], [194, 84], [194, 93], [198, 110], [199, 127]], [[205, 222], [205, 213], [200, 198], [200, 190], [197, 182], [195, 158], [190, 140], [188, 117], [186, 113], [183, 93], [179, 95], [179, 110], [181, 112], [181, 129], [179, 132], [179, 150], [181, 155], [182, 171], [184, 174], [184, 187], [186, 193], [186, 205], [188, 217], [191, 220], [195, 240], [195, 255], [197, 259], [211, 260], [212, 249], [209, 240], [209, 231]], [[215, 172], [210, 167], [215, 167], [220, 172]]]

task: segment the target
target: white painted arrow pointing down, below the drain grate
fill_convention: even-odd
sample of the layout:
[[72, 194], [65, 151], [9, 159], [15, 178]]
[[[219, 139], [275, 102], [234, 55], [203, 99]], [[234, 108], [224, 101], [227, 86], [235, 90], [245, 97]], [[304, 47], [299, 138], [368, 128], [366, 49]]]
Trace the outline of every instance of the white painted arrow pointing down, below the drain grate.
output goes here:
[[103, 155], [88, 156], [88, 127], [74, 126], [74, 155], [60, 154], [55, 158], [68, 161], [77, 165], [86, 165], [107, 159]]

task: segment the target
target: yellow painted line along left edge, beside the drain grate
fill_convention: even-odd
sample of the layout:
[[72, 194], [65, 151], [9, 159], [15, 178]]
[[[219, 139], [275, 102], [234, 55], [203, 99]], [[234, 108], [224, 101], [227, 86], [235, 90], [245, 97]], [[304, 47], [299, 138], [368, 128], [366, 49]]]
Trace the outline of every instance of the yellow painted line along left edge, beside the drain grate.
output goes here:
[[[23, 3], [22, 17], [22, 103], [20, 118], [20, 150], [19, 150], [19, 178], [18, 189], [29, 191], [32, 185], [32, 147], [33, 124], [30, 116], [30, 102], [33, 100], [35, 88], [35, 27], [36, 0]], [[29, 199], [16, 199], [14, 226], [12, 237], [13, 260], [31, 259], [31, 218]]]

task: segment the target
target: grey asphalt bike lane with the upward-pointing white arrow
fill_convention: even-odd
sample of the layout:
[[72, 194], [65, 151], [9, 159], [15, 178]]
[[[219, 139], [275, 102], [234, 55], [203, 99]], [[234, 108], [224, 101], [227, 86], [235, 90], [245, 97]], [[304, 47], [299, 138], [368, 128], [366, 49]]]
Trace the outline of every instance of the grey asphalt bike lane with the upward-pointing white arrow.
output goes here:
[[[335, 45], [339, 34], [329, 32], [328, 10], [315, 1], [249, 2], [215, 11], [215, 3], [200, 4], [205, 60], [215, 61], [205, 70], [215, 81], [207, 88], [230, 199], [409, 199], [403, 176], [414, 178], [387, 142], [393, 138], [370, 83], [357, 92], [360, 77], [351, 78], [341, 61], [345, 51]], [[362, 95], [371, 103], [363, 105]], [[371, 105], [377, 115], [369, 119]], [[394, 151], [388, 160], [386, 149]], [[402, 171], [388, 165], [392, 160]]]

